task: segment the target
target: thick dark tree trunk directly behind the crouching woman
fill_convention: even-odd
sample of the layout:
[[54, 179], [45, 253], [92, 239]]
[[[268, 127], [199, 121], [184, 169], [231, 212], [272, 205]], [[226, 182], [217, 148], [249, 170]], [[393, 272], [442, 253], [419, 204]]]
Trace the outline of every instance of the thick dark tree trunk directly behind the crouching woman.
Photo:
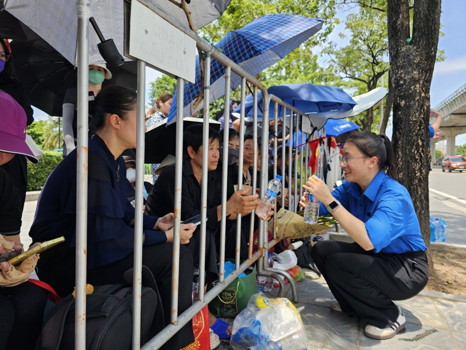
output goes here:
[[[413, 198], [422, 236], [430, 244], [429, 108], [441, 0], [415, 0], [410, 37], [408, 0], [388, 0], [388, 50], [393, 80], [393, 147], [399, 182]], [[433, 272], [430, 251], [429, 266]]]

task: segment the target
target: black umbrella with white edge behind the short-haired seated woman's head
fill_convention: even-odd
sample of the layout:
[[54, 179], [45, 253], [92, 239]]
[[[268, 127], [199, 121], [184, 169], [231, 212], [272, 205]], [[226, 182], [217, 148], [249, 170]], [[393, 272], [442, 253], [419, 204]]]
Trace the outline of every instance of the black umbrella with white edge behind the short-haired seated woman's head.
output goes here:
[[[189, 125], [203, 123], [202, 118], [186, 117], [183, 119], [183, 128]], [[209, 126], [217, 131], [220, 130], [220, 123], [209, 119]], [[166, 125], [166, 119], [155, 124], [146, 131], [146, 147], [144, 162], [161, 163], [167, 155], [175, 155], [176, 151], [176, 123]], [[183, 140], [182, 140], [183, 142]], [[179, 145], [183, 147], [183, 144]]]

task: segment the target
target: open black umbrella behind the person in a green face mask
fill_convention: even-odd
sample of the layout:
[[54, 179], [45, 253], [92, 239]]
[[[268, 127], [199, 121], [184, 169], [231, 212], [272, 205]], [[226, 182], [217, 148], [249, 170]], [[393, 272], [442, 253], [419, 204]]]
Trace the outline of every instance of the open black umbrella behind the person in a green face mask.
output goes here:
[[[67, 89], [78, 85], [75, 67], [41, 38], [13, 40], [10, 46], [16, 75], [24, 84], [31, 105], [52, 116], [61, 116]], [[136, 89], [136, 62], [109, 70], [112, 79], [105, 80], [102, 86], [115, 84]]]

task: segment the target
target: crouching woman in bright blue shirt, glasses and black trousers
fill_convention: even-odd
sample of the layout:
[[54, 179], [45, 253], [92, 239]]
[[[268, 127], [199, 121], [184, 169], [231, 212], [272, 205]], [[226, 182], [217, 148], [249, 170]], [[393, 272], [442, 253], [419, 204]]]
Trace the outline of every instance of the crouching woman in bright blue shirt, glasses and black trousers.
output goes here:
[[338, 301], [333, 311], [356, 314], [367, 321], [366, 336], [389, 339], [406, 328], [392, 300], [414, 297], [427, 284], [427, 248], [411, 196], [397, 181], [390, 140], [351, 135], [340, 166], [345, 181], [333, 192], [316, 176], [303, 188], [319, 200], [320, 215], [330, 212], [355, 243], [321, 241], [311, 255]]

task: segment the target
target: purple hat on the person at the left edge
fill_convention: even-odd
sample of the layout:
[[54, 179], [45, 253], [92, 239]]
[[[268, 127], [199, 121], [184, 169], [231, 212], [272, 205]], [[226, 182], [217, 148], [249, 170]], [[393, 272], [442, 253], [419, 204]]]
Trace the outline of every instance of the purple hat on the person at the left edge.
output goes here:
[[23, 107], [0, 91], [0, 152], [22, 154], [37, 163], [38, 159], [26, 143], [26, 122]]

